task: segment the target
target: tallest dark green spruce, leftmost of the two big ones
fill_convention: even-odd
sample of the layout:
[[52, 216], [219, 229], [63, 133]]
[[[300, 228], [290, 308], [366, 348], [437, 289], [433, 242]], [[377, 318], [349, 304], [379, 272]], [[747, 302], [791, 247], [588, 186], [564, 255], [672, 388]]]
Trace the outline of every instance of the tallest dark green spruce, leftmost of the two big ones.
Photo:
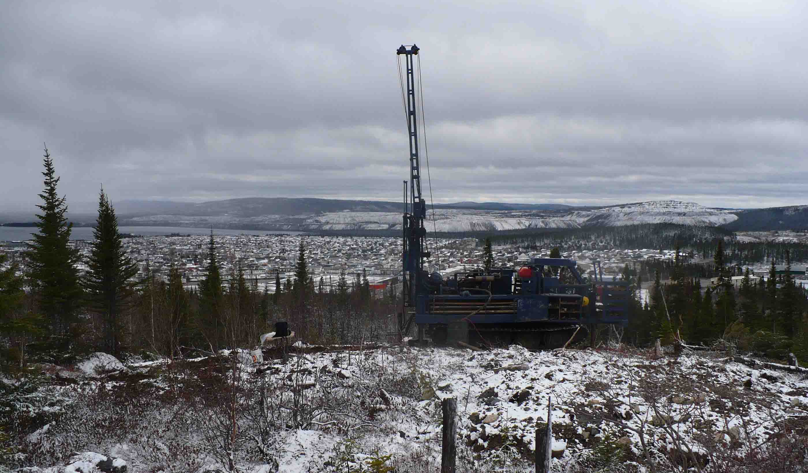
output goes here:
[[69, 245], [73, 224], [67, 221], [65, 197], [57, 194], [59, 179], [53, 167], [53, 159], [45, 148], [44, 190], [40, 194], [41, 214], [36, 214], [38, 232], [32, 233], [33, 243], [27, 245], [28, 277], [39, 312], [44, 316], [50, 333], [65, 335], [71, 324], [78, 321], [82, 304], [82, 287], [79, 283], [78, 249]]

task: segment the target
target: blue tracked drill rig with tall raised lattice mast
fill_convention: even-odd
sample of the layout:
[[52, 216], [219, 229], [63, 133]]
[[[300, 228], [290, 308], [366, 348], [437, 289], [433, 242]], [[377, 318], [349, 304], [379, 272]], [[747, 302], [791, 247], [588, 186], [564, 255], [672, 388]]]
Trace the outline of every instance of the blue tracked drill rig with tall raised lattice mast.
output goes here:
[[587, 283], [577, 263], [564, 258], [533, 257], [519, 269], [479, 268], [448, 278], [423, 269], [430, 253], [419, 161], [419, 96], [414, 64], [419, 48], [415, 44], [402, 45], [396, 53], [399, 66], [402, 56], [406, 65], [403, 102], [410, 137], [410, 188], [407, 192], [405, 185], [404, 191], [400, 335], [408, 336], [415, 324], [416, 342], [422, 344], [431, 339], [436, 344], [519, 343], [528, 348], [551, 349], [564, 345], [584, 326], [593, 342], [597, 324], [625, 327], [631, 296], [628, 283], [604, 282], [602, 273], [598, 281], [599, 266], [595, 266], [595, 283]]

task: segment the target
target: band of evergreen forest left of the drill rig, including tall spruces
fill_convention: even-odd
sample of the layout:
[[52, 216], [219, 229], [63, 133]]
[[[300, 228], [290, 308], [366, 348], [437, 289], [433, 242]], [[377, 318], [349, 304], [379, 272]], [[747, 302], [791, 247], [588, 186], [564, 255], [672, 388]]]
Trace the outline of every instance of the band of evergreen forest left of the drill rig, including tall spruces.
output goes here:
[[[294, 283], [276, 291], [259, 290], [238, 264], [229, 283], [221, 274], [216, 238], [208, 242], [205, 277], [198, 290], [183, 287], [178, 268], [168, 280], [137, 265], [126, 255], [115, 209], [102, 189], [94, 241], [85, 274], [79, 254], [69, 245], [72, 231], [67, 204], [59, 197], [59, 178], [48, 150], [44, 153], [44, 191], [38, 206], [38, 233], [17, 264], [0, 272], [0, 333], [4, 366], [21, 366], [32, 356], [53, 362], [82, 353], [116, 356], [251, 347], [278, 320], [288, 320], [298, 337], [311, 343], [357, 343], [384, 337], [398, 305], [392, 292], [373, 297], [366, 275], [340, 274], [331, 290], [314, 280], [306, 266], [305, 244], [297, 249]], [[6, 255], [0, 254], [0, 264]], [[28, 291], [25, 291], [25, 288]]]

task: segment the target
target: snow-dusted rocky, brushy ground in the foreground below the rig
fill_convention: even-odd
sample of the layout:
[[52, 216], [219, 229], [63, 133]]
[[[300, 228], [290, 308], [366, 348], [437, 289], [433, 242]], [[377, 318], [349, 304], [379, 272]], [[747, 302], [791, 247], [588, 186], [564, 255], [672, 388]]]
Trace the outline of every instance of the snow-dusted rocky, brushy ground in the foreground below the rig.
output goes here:
[[[15, 467], [440, 471], [448, 397], [457, 471], [534, 471], [550, 403], [553, 471], [752, 471], [743, 462], [804, 460], [808, 445], [806, 375], [719, 352], [332, 350], [297, 347], [288, 362], [267, 353], [249, 366], [225, 352], [94, 375], [46, 367], [49, 383], [19, 400], [36, 430], [19, 439]], [[800, 471], [789, 464], [782, 471]]]

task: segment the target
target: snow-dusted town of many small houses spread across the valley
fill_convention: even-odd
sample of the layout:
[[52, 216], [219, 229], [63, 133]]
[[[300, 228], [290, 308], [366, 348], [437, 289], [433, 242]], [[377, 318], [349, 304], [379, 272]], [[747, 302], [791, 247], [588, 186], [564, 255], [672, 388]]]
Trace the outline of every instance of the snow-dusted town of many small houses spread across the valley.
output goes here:
[[[294, 278], [298, 249], [303, 242], [309, 274], [324, 287], [335, 287], [340, 274], [348, 283], [356, 278], [368, 278], [371, 287], [379, 291], [398, 291], [401, 273], [402, 241], [393, 237], [326, 237], [307, 235], [214, 235], [217, 259], [225, 283], [240, 267], [246, 279], [260, 291], [274, 292], [276, 280], [283, 285]], [[155, 236], [124, 238], [128, 256], [138, 263], [137, 278], [145, 278], [152, 272], [167, 280], [172, 268], [182, 274], [183, 284], [192, 289], [199, 285], [208, 266], [209, 236]], [[74, 241], [84, 256], [89, 257], [88, 241]], [[444, 275], [482, 266], [482, 246], [475, 239], [429, 238], [429, 250], [433, 255], [427, 262], [428, 270]], [[0, 242], [0, 251], [21, 252], [21, 242]], [[525, 251], [517, 245], [494, 246], [494, 266], [514, 267], [527, 262], [529, 257], [549, 257], [550, 249]], [[646, 259], [672, 259], [670, 250], [584, 250], [564, 252], [562, 257], [579, 262], [583, 273], [593, 273], [595, 262], [608, 278], [609, 274], [621, 273], [628, 262]], [[12, 258], [19, 261], [19, 258]], [[80, 270], [86, 270], [80, 264]]]

